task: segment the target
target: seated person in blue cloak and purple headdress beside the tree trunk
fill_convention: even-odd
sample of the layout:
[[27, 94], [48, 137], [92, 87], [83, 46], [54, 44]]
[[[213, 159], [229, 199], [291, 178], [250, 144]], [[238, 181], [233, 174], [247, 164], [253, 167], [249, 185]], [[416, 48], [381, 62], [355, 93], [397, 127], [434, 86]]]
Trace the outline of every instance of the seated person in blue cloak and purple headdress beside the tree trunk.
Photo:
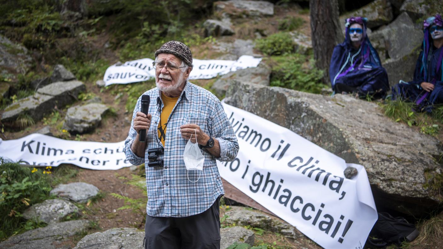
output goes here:
[[360, 98], [384, 98], [389, 91], [388, 74], [366, 34], [367, 19], [346, 19], [345, 41], [334, 47], [329, 77], [334, 93], [352, 93]]

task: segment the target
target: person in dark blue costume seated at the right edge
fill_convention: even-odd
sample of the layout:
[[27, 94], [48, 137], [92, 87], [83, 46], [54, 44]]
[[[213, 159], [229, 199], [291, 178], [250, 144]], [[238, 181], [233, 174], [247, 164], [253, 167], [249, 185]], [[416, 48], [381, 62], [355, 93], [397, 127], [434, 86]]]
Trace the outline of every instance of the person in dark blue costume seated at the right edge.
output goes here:
[[431, 112], [443, 104], [443, 20], [435, 15], [424, 20], [422, 51], [411, 82], [392, 87], [392, 99], [414, 102], [416, 110]]

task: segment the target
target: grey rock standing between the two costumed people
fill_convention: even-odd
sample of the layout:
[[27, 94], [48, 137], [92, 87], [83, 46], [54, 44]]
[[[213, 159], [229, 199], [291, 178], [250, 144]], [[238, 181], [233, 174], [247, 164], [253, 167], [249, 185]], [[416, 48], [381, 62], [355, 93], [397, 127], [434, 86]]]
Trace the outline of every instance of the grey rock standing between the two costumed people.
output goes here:
[[[407, 37], [407, 39], [405, 39]], [[394, 60], [411, 53], [416, 47], [420, 47], [423, 41], [423, 31], [414, 27], [414, 22], [406, 12], [403, 12], [385, 28], [374, 31], [369, 39], [377, 51], [380, 51], [382, 62], [385, 58]], [[383, 51], [385, 55], [383, 56]]]

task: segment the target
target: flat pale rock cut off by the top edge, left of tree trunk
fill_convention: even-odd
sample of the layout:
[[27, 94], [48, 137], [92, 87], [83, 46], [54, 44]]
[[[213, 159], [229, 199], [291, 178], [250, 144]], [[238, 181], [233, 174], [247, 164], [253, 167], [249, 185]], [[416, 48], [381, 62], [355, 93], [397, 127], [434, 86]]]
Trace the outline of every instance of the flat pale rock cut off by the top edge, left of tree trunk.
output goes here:
[[229, 16], [273, 16], [274, 4], [268, 1], [229, 0], [214, 2], [214, 12]]

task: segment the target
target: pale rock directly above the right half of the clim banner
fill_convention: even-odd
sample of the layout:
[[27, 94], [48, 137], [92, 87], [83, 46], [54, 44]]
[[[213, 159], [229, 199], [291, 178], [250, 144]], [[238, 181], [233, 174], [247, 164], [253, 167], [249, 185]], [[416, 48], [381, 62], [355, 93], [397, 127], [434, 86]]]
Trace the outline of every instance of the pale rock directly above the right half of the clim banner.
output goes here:
[[220, 60], [237, 60], [241, 55], [252, 55], [260, 56], [254, 54], [254, 43], [252, 40], [242, 40], [236, 39], [233, 43], [217, 42], [214, 45], [214, 50], [223, 53], [222, 56], [218, 57]]

